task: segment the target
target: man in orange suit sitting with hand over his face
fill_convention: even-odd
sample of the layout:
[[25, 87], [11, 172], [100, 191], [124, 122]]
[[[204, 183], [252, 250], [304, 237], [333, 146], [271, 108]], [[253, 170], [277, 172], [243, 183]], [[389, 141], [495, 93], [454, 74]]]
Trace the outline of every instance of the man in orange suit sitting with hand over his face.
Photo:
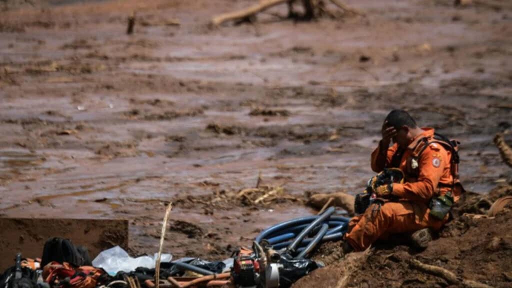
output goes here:
[[377, 173], [399, 168], [404, 181], [376, 187], [376, 196], [385, 200], [371, 204], [364, 214], [351, 219], [343, 251], [363, 251], [377, 239], [414, 232], [413, 240], [414, 236], [419, 239], [416, 245], [426, 248], [432, 239], [431, 230], [438, 231], [449, 218], [449, 213], [431, 213], [432, 201], [442, 196], [455, 203], [463, 191], [451, 158], [452, 150], [436, 141], [434, 129], [419, 128], [406, 111], [391, 111], [382, 125], [382, 139], [372, 153], [371, 167]]

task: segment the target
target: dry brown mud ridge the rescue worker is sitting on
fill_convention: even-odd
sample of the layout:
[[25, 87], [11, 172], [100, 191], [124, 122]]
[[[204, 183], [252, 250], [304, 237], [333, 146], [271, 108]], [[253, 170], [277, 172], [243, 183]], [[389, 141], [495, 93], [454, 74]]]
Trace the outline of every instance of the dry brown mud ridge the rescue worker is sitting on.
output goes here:
[[[425, 251], [411, 249], [407, 237], [397, 236], [390, 241], [394, 244], [376, 243], [366, 253], [349, 254], [340, 260], [339, 242], [324, 244], [314, 259], [328, 266], [292, 287], [510, 287], [512, 203], [494, 217], [480, 214], [490, 208], [482, 202], [492, 203], [510, 195], [512, 185], [498, 187], [485, 196], [466, 194], [454, 211], [456, 218]], [[456, 279], [425, 272], [417, 261], [452, 272]]]

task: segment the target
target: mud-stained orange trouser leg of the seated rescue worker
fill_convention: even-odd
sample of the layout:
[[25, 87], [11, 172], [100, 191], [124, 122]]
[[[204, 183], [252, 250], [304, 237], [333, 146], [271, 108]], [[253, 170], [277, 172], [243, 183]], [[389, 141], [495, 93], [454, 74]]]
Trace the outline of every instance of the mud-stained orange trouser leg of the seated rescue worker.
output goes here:
[[380, 209], [377, 204], [372, 204], [365, 214], [351, 219], [345, 239], [354, 250], [362, 251], [381, 236], [410, 233], [426, 227], [437, 230], [441, 225], [442, 221], [433, 221], [428, 216], [417, 221], [409, 202], [386, 202]]

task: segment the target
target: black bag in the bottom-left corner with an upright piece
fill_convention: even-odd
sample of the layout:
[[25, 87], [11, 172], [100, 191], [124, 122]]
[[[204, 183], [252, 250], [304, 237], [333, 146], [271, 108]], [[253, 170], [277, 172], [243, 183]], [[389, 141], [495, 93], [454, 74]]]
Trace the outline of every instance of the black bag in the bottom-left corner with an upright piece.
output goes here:
[[16, 265], [8, 268], [0, 276], [0, 288], [35, 288], [37, 273], [27, 266], [22, 266], [22, 255], [16, 255]]

